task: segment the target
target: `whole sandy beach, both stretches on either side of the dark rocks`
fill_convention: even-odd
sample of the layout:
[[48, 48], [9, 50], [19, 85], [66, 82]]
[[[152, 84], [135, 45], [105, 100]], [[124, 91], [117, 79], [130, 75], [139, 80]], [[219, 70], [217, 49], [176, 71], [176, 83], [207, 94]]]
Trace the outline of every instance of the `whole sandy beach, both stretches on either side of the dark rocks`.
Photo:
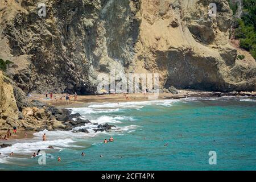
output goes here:
[[[207, 91], [199, 91], [199, 90], [179, 90], [178, 94], [172, 93], [159, 93], [158, 98], [154, 98], [152, 100], [179, 100], [181, 98], [203, 98], [203, 97], [223, 97], [223, 96], [234, 96], [234, 97], [256, 97], [256, 93], [254, 92], [207, 92]], [[66, 109], [70, 107], [84, 107], [90, 103], [122, 103], [122, 102], [142, 102], [142, 101], [151, 101], [148, 99], [148, 96], [152, 96], [152, 93], [148, 93], [146, 96], [144, 93], [135, 93], [135, 94], [127, 94], [129, 96], [129, 100], [127, 100], [123, 94], [103, 94], [100, 96], [77, 96], [77, 100], [74, 101], [73, 98], [70, 101], [70, 104], [64, 100], [60, 101], [59, 98], [63, 97], [65, 94], [53, 94], [53, 98], [56, 97], [56, 100], [46, 100], [46, 96], [44, 94], [36, 94], [32, 93], [31, 97], [27, 97], [29, 101], [37, 100], [43, 102], [47, 105], [52, 105], [55, 107], [59, 107], [60, 109]], [[2, 137], [6, 135], [7, 130], [0, 130], [0, 134]], [[38, 131], [27, 131], [27, 138], [24, 138], [25, 129], [19, 128], [17, 134], [13, 134], [13, 130], [11, 130], [12, 136], [9, 140], [0, 140], [0, 144], [6, 143], [8, 141], [13, 141], [15, 139], [31, 139], [34, 138], [34, 133]]]

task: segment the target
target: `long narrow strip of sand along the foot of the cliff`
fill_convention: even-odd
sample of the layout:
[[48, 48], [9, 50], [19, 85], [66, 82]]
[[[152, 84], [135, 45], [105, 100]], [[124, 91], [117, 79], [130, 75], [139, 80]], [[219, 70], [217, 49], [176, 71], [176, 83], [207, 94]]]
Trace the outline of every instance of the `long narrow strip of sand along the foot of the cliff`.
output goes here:
[[[60, 108], [66, 107], [79, 107], [84, 106], [92, 102], [103, 103], [103, 102], [133, 102], [133, 101], [150, 101], [150, 100], [169, 100], [169, 99], [180, 99], [186, 97], [222, 97], [222, 96], [248, 96], [256, 97], [256, 92], [208, 92], [200, 90], [178, 90], [177, 94], [172, 93], [159, 93], [158, 97], [150, 99], [150, 96], [154, 96], [152, 93], [147, 93], [146, 96], [144, 93], [131, 93], [127, 94], [129, 100], [123, 96], [123, 94], [102, 94], [102, 95], [86, 95], [86, 96], [77, 96], [77, 100], [71, 98], [69, 104], [65, 101], [65, 94], [53, 94], [53, 99], [46, 100], [45, 94], [31, 93], [31, 97], [27, 97], [28, 100], [39, 100], [45, 104], [53, 105]], [[63, 100], [59, 100], [60, 97], [63, 97]], [[56, 99], [55, 99], [56, 98]]]

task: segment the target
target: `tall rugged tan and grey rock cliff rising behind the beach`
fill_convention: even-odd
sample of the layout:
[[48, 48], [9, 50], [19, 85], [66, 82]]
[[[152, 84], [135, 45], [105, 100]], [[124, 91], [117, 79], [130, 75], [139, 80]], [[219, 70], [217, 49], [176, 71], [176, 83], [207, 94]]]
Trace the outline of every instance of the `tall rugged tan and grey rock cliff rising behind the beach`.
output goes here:
[[225, 0], [2, 0], [0, 58], [26, 93], [92, 94], [113, 69], [159, 73], [161, 88], [256, 90], [255, 60], [237, 59], [231, 23]]

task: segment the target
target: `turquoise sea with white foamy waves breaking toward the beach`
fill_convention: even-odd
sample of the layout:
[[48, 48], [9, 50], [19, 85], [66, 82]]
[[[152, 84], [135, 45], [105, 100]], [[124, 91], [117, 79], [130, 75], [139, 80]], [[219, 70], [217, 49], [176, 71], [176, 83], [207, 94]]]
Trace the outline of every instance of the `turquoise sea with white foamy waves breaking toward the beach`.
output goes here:
[[[0, 170], [256, 169], [255, 98], [91, 103], [73, 112], [117, 129], [95, 134], [94, 126], [86, 125], [89, 134], [43, 131], [33, 139], [16, 140], [0, 148]], [[47, 142], [41, 142], [43, 133]], [[114, 142], [104, 144], [110, 136]], [[47, 150], [49, 145], [55, 149]], [[39, 149], [47, 153], [46, 165], [31, 158]], [[11, 151], [15, 155], [7, 157]], [[216, 151], [216, 165], [209, 164], [209, 151]]]

